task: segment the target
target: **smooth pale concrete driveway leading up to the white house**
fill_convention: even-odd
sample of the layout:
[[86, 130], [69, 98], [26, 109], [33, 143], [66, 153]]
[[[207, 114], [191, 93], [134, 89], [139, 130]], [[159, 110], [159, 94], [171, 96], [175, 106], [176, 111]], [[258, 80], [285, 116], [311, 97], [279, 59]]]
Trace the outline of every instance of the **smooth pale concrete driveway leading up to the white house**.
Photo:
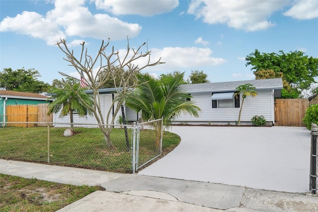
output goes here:
[[303, 193], [309, 190], [305, 127], [173, 126], [181, 143], [139, 175]]

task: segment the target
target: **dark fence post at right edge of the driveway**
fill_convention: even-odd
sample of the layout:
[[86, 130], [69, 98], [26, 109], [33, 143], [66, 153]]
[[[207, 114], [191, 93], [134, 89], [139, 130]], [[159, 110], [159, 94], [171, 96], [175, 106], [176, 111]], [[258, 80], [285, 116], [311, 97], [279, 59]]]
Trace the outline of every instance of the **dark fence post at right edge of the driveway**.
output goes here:
[[317, 124], [312, 124], [312, 139], [311, 139], [311, 150], [310, 150], [310, 180], [309, 190], [312, 194], [317, 192]]

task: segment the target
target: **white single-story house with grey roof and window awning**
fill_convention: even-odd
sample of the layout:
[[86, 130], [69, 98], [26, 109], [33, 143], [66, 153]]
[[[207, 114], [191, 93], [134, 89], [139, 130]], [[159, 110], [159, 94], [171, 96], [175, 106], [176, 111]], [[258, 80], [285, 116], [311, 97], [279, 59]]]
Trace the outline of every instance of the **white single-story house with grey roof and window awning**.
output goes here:
[[[174, 124], [236, 124], [239, 119], [239, 109], [242, 103], [242, 94], [239, 98], [235, 97], [236, 88], [246, 83], [252, 84], [256, 88], [257, 96], [252, 98], [247, 96], [241, 111], [241, 124], [251, 124], [250, 119], [254, 115], [264, 115], [268, 124], [275, 123], [274, 116], [274, 98], [281, 97], [281, 89], [283, 88], [282, 79], [264, 79], [264, 80], [248, 80], [234, 81], [222, 83], [203, 83], [203, 84], [187, 84], [184, 85], [188, 94], [192, 96], [194, 101], [202, 110], [199, 117], [182, 114], [174, 120]], [[86, 91], [92, 94], [91, 91]], [[106, 117], [111, 102], [116, 95], [116, 89], [100, 89], [100, 100], [102, 114]], [[137, 121], [141, 114], [136, 114], [129, 107], [124, 107], [126, 119], [129, 122]], [[112, 114], [111, 113], [111, 114]], [[121, 111], [117, 114], [121, 115]], [[69, 122], [69, 115], [60, 117], [60, 114], [54, 114], [53, 122]], [[96, 119], [92, 115], [79, 117], [74, 115], [75, 123], [96, 123]]]

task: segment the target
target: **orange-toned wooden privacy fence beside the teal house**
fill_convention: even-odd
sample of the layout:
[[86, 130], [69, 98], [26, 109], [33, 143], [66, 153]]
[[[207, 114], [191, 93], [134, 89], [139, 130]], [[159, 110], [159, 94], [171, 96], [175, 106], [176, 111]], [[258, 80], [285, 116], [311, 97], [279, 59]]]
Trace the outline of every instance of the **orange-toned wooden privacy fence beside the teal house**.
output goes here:
[[[46, 115], [48, 104], [8, 105], [6, 106], [7, 122], [53, 122], [53, 115]], [[8, 123], [8, 126], [33, 127], [33, 123]], [[41, 126], [41, 124], [37, 124]]]

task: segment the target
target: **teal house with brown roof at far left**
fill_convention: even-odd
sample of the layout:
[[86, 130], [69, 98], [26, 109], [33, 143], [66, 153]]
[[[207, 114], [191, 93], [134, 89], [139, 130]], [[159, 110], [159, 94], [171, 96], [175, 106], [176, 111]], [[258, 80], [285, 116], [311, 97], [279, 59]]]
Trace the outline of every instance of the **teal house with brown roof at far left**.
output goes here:
[[[4, 121], [7, 106], [18, 108], [25, 105], [47, 104], [47, 99], [47, 96], [41, 94], [0, 90], [0, 122]], [[7, 120], [5, 119], [5, 121]]]

